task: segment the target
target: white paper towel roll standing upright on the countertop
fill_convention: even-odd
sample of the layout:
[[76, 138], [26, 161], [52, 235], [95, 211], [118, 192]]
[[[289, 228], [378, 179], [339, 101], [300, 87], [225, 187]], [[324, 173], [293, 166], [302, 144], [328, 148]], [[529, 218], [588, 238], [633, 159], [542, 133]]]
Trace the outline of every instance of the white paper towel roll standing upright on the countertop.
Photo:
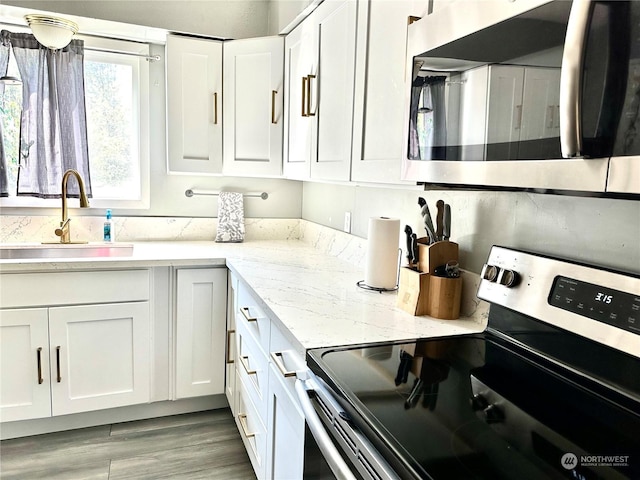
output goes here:
[[364, 283], [375, 288], [395, 288], [398, 281], [400, 219], [369, 219]]

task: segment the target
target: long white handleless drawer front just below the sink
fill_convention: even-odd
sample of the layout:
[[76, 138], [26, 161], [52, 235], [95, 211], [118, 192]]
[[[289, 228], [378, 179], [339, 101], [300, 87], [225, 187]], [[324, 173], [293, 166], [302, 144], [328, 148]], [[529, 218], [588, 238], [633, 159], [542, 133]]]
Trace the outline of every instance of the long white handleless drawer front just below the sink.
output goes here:
[[150, 298], [149, 270], [5, 273], [2, 308], [136, 302]]

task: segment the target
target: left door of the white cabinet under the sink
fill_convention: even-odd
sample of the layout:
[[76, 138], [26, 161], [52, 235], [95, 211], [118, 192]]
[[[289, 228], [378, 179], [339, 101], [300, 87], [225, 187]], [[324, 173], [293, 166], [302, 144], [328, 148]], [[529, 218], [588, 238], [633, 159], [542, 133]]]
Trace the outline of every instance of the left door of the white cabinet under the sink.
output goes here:
[[0, 420], [51, 416], [48, 315], [0, 311]]

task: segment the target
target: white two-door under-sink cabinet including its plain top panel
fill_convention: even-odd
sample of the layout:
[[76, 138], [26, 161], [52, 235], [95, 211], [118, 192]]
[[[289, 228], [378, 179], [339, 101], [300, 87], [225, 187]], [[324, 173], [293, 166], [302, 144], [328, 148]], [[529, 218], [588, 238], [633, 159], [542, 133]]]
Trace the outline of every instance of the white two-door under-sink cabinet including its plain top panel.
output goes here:
[[148, 270], [3, 274], [0, 421], [148, 402]]

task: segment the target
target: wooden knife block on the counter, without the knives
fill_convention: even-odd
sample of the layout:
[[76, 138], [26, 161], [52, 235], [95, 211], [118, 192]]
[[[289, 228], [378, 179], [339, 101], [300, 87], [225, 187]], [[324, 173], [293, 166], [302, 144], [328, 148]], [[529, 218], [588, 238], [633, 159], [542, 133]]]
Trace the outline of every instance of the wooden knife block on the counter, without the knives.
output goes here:
[[[422, 240], [422, 239], [420, 239]], [[418, 241], [418, 268], [400, 269], [396, 306], [412, 315], [429, 315], [443, 320], [460, 317], [462, 278], [434, 275], [435, 269], [450, 261], [458, 261], [458, 244], [436, 242], [426, 245]]]

